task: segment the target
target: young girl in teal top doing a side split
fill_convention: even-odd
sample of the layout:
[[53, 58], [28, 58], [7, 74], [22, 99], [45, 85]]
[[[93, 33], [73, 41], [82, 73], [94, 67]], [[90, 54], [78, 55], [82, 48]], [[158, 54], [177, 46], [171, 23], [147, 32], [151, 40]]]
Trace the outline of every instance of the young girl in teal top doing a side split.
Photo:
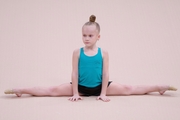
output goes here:
[[143, 95], [177, 89], [168, 85], [130, 86], [109, 81], [108, 52], [96, 46], [100, 39], [100, 26], [95, 22], [96, 17], [90, 16], [89, 22], [82, 27], [84, 47], [73, 52], [72, 82], [52, 87], [16, 88], [6, 90], [5, 94], [22, 94], [34, 96], [72, 96], [70, 101], [81, 100], [81, 96], [98, 96], [97, 100], [110, 101], [110, 95]]

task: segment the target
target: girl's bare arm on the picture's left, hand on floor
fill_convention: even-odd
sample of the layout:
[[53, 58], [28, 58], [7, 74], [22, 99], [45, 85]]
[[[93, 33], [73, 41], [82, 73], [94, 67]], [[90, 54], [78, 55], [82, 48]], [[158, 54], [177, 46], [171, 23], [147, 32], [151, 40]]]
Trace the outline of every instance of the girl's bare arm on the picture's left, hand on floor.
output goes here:
[[79, 49], [75, 50], [73, 52], [73, 56], [72, 56], [71, 79], [72, 79], [73, 96], [71, 98], [69, 98], [69, 100], [71, 100], [71, 101], [77, 101], [79, 99], [82, 99], [79, 96], [79, 92], [78, 92], [78, 59], [79, 59]]

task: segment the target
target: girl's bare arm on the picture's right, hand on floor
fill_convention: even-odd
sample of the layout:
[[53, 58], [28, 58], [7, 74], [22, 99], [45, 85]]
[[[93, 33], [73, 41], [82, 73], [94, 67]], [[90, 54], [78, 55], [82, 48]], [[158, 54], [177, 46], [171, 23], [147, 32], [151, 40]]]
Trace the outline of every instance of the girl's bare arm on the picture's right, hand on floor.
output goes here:
[[107, 98], [106, 96], [108, 81], [109, 81], [109, 55], [107, 51], [103, 50], [102, 89], [98, 99], [101, 99], [104, 102], [110, 101], [110, 99]]

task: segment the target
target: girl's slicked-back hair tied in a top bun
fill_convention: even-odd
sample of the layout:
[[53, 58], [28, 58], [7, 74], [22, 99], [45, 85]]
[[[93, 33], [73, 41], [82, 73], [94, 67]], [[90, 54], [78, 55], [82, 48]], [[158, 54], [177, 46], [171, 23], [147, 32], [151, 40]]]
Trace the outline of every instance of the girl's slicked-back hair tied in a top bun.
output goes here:
[[85, 25], [95, 25], [95, 26], [96, 26], [96, 29], [97, 29], [98, 32], [100, 33], [100, 26], [99, 26], [99, 24], [98, 24], [97, 22], [95, 22], [95, 21], [96, 21], [96, 16], [95, 16], [95, 15], [91, 15], [91, 16], [89, 17], [89, 21], [86, 22], [83, 26], [85, 26]]

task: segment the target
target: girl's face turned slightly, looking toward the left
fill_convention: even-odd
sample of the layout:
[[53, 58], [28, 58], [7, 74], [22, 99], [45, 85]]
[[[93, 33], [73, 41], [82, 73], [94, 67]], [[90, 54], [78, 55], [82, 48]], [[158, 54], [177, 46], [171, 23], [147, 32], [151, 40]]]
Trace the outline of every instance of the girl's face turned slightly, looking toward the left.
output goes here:
[[84, 25], [82, 28], [82, 40], [85, 46], [93, 47], [100, 35], [95, 25]]

